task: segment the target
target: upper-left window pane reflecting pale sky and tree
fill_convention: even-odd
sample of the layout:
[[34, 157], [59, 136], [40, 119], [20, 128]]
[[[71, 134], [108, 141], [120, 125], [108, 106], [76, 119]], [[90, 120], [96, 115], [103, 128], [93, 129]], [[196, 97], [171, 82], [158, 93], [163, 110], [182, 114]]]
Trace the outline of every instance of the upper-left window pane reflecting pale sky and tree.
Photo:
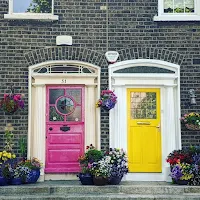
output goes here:
[[52, 0], [13, 0], [14, 13], [51, 13]]

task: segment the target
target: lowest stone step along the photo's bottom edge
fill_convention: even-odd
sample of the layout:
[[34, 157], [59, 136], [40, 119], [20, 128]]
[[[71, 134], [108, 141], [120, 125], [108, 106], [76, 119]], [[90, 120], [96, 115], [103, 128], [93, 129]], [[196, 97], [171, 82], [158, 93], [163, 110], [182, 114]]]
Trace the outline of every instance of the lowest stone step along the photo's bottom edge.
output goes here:
[[0, 196], [0, 200], [200, 200], [200, 194], [141, 195], [141, 194], [69, 194]]

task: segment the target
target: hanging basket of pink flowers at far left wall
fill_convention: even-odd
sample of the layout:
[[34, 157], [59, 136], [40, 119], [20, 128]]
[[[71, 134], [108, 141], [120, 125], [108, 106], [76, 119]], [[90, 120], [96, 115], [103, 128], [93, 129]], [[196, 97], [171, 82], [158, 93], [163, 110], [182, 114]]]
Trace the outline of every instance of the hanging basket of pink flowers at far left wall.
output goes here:
[[19, 109], [24, 108], [24, 101], [21, 94], [4, 94], [0, 101], [0, 108], [7, 114], [13, 114]]

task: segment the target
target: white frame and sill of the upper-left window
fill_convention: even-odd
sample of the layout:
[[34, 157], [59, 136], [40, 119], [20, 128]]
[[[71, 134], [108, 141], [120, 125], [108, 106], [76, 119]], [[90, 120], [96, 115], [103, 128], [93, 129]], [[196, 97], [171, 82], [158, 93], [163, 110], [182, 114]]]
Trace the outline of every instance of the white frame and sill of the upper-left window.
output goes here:
[[51, 13], [14, 13], [13, 1], [9, 0], [8, 14], [4, 14], [5, 19], [35, 19], [35, 20], [58, 20], [58, 15], [54, 15], [54, 0], [52, 0]]

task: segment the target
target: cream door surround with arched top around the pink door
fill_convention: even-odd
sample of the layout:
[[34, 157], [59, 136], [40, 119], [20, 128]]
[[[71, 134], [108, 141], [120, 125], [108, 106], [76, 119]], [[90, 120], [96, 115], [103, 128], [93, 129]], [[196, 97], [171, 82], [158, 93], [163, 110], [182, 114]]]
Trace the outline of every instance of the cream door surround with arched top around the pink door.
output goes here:
[[[53, 73], [55, 66], [77, 67], [79, 71]], [[38, 73], [42, 68], [48, 68], [48, 72]], [[91, 73], [84, 73], [83, 68]], [[28, 157], [37, 157], [45, 167], [46, 85], [85, 86], [85, 145], [100, 149], [100, 109], [95, 106], [100, 94], [100, 67], [76, 60], [47, 61], [29, 67]], [[40, 181], [45, 179], [43, 169]]]

